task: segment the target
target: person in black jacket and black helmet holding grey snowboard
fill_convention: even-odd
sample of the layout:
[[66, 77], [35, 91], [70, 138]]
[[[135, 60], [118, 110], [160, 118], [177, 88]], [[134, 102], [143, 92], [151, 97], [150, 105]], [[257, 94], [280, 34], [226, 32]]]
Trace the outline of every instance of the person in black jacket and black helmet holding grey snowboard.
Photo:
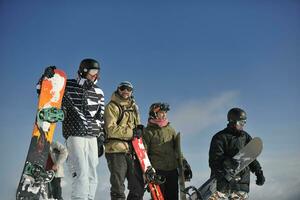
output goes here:
[[260, 163], [254, 160], [238, 174], [240, 179], [233, 179], [228, 182], [224, 178], [228, 169], [234, 169], [236, 166], [236, 163], [232, 159], [233, 156], [252, 139], [252, 137], [244, 131], [247, 120], [247, 115], [244, 110], [241, 108], [230, 109], [227, 114], [227, 120], [227, 127], [216, 133], [210, 144], [209, 167], [211, 168], [211, 176], [217, 179], [217, 192], [213, 194], [210, 200], [245, 200], [249, 198], [250, 171], [256, 175], [257, 185], [263, 185], [265, 177]]

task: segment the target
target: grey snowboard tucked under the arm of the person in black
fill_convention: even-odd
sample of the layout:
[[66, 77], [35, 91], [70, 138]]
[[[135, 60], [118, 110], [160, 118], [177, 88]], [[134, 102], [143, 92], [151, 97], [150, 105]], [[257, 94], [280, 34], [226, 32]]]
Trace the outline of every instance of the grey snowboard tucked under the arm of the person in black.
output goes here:
[[[258, 137], [253, 138], [233, 157], [238, 163], [237, 168], [230, 171], [225, 178], [228, 181], [232, 178], [238, 178], [237, 174], [254, 161], [260, 155], [262, 149], [262, 140]], [[217, 180], [214, 177], [211, 177], [198, 189], [193, 186], [188, 187], [186, 193], [188, 193], [188, 190], [190, 189], [194, 192], [189, 195], [189, 200], [208, 200], [209, 197], [217, 191]]]

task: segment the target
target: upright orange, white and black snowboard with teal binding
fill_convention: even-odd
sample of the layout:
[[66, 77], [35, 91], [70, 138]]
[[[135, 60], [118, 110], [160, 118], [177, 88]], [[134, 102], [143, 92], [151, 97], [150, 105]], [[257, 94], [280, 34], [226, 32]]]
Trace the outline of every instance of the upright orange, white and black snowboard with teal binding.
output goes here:
[[46, 171], [49, 147], [53, 139], [56, 122], [62, 121], [64, 113], [60, 110], [66, 85], [66, 75], [55, 69], [52, 78], [41, 81], [38, 109], [32, 138], [17, 188], [17, 200], [35, 200], [46, 195], [46, 183], [54, 177], [53, 171]]

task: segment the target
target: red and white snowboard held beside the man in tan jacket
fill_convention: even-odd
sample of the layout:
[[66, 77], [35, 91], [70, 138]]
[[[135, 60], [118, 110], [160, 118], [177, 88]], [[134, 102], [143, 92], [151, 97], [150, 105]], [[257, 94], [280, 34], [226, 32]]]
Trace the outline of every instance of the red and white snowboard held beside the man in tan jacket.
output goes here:
[[132, 146], [140, 162], [152, 199], [164, 200], [163, 194], [159, 187], [159, 184], [163, 181], [161, 180], [161, 177], [156, 175], [154, 168], [151, 166], [142, 138], [135, 137], [132, 140]]

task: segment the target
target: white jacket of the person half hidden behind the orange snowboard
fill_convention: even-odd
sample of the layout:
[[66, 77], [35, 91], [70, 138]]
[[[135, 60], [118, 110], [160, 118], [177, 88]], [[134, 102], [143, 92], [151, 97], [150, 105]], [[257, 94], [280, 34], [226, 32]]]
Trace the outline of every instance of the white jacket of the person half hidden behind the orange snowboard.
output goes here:
[[64, 177], [63, 163], [68, 157], [67, 148], [58, 141], [53, 141], [50, 145], [49, 153], [53, 163], [58, 165], [58, 170], [55, 173], [55, 177]]

